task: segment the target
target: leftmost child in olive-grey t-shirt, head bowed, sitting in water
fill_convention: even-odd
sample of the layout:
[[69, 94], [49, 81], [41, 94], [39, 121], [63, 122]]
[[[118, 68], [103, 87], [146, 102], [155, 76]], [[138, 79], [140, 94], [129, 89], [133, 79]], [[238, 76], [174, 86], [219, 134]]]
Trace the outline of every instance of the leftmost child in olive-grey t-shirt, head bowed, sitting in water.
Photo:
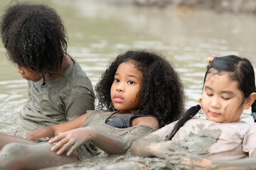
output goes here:
[[67, 54], [63, 21], [53, 8], [14, 4], [1, 17], [0, 28], [9, 60], [28, 81], [28, 101], [18, 124], [36, 130], [94, 109], [91, 81]]

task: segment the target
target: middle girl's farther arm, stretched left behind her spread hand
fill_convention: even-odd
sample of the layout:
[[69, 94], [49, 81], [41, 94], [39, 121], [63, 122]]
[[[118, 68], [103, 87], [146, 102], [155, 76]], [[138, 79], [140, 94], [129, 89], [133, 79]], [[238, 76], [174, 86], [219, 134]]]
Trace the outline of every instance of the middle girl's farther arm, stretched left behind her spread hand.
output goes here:
[[58, 125], [46, 126], [31, 132], [31, 134], [26, 135], [24, 138], [27, 140], [36, 141], [41, 137], [54, 137], [59, 132], [65, 132], [75, 128], [79, 128], [86, 121], [86, 114], [80, 115], [80, 117], [70, 120], [65, 123], [60, 123]]

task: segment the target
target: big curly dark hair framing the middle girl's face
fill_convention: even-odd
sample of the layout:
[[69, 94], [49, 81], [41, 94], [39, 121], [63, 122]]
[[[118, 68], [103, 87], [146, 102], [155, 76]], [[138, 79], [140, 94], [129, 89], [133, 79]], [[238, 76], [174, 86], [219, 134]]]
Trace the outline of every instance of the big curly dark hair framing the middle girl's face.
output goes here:
[[163, 57], [144, 50], [127, 51], [110, 64], [95, 86], [98, 108], [116, 111], [110, 97], [117, 67], [124, 62], [132, 62], [142, 72], [141, 101], [136, 115], [155, 116], [164, 126], [181, 118], [183, 113], [183, 86], [178, 74]]

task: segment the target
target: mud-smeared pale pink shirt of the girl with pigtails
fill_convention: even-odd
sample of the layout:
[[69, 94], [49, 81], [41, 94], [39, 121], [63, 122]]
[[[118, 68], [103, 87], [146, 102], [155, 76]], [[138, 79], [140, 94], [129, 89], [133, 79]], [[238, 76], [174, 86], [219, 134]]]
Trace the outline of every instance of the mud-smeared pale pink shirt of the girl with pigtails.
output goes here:
[[[151, 135], [158, 135], [159, 142], [163, 142], [175, 124], [166, 125]], [[187, 152], [223, 160], [247, 157], [247, 152], [256, 147], [255, 139], [255, 123], [215, 123], [193, 118], [178, 130], [171, 142], [179, 142], [179, 147], [186, 146]], [[210, 142], [212, 144], [208, 145]]]

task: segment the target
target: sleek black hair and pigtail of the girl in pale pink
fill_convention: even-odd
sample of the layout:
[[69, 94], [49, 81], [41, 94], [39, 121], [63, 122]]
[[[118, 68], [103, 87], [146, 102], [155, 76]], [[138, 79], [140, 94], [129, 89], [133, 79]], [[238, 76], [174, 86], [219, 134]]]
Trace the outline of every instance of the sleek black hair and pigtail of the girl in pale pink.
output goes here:
[[[230, 79], [233, 81], [238, 81], [238, 89], [241, 91], [243, 99], [249, 97], [250, 94], [255, 92], [255, 73], [252, 64], [246, 58], [241, 58], [235, 55], [228, 55], [224, 57], [216, 57], [212, 62], [208, 64], [206, 75], [203, 79], [203, 85], [206, 81], [206, 76], [213, 71], [217, 71], [216, 74], [222, 74], [223, 72], [228, 72]], [[214, 73], [215, 74], [215, 73]], [[252, 113], [256, 112], [256, 101], [252, 103]], [[183, 117], [178, 120], [178, 123], [174, 126], [174, 129], [170, 133], [167, 140], [171, 140], [176, 134], [179, 128], [186, 123], [187, 120], [192, 118], [198, 111], [200, 111], [201, 106], [193, 106], [186, 111]]]

